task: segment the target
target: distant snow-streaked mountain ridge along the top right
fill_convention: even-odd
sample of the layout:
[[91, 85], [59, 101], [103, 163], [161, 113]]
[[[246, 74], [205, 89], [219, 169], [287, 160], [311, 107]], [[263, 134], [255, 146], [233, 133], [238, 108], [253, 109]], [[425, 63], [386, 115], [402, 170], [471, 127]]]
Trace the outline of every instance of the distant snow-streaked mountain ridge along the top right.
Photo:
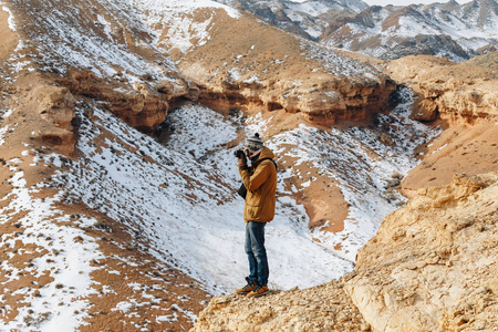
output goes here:
[[498, 40], [494, 32], [498, 31], [496, 0], [386, 7], [343, 3], [343, 8], [330, 7], [328, 14], [299, 10], [320, 2], [314, 0], [299, 4], [273, 1], [273, 7], [258, 1], [220, 2], [322, 44], [385, 60], [429, 54], [461, 62], [481, 54], [486, 48], [496, 50]]

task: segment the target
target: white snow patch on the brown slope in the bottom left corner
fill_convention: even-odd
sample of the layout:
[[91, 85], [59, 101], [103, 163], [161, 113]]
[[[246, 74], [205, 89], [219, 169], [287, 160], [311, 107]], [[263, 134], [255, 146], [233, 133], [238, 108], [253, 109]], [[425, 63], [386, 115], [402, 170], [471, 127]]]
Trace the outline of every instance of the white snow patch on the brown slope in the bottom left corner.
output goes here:
[[[15, 222], [24, 230], [15, 235], [4, 234], [0, 238], [1, 246], [13, 248], [21, 241], [23, 246], [34, 245], [46, 249], [48, 253], [31, 260], [31, 264], [22, 271], [11, 266], [9, 260], [2, 261], [1, 269], [11, 272], [11, 277], [2, 284], [6, 287], [15, 280], [18, 273], [30, 273], [35, 278], [48, 273], [53, 281], [40, 289], [24, 288], [19, 291], [30, 305], [21, 307], [18, 315], [3, 322], [2, 326], [6, 331], [13, 331], [24, 329], [29, 323], [37, 326], [38, 331], [74, 331], [86, 317], [85, 310], [90, 303], [85, 298], [96, 293], [90, 274], [97, 268], [92, 267], [91, 261], [102, 258], [102, 253], [93, 238], [76, 228], [70, 216], [54, 208], [62, 193], [52, 198], [35, 198], [31, 194], [37, 193], [43, 184], [28, 188], [24, 173], [18, 166], [21, 160], [11, 159], [7, 163], [13, 174], [9, 179], [13, 189], [1, 199], [9, 204], [0, 208], [0, 225], [11, 224], [11, 218], [22, 211], [23, 217]], [[79, 222], [87, 226], [95, 220], [82, 218]], [[80, 240], [75, 241], [76, 238]], [[23, 255], [24, 251], [19, 250], [17, 255]]]

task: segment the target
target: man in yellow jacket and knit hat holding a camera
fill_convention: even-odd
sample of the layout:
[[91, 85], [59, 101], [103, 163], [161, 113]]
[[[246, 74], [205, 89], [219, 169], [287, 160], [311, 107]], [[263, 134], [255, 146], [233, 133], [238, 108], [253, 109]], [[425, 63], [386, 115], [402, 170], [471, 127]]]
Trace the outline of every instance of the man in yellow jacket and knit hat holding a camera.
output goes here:
[[[246, 138], [243, 144], [246, 155], [240, 155], [239, 174], [247, 188], [243, 206], [246, 220], [246, 253], [249, 259], [249, 277], [247, 286], [237, 289], [237, 293], [248, 297], [259, 297], [268, 292], [268, 260], [264, 248], [264, 226], [273, 220], [277, 166], [273, 163], [273, 153], [266, 146], [259, 134]], [[247, 165], [247, 158], [251, 166]]]

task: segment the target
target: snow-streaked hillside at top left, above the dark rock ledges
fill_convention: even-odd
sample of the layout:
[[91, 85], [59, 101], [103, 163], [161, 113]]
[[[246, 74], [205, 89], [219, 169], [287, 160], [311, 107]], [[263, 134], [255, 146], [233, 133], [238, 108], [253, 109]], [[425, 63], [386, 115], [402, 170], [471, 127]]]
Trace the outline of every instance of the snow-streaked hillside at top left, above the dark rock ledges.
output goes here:
[[[102, 79], [129, 83], [149, 76], [170, 80], [176, 69], [168, 53], [181, 51], [208, 38], [210, 20], [186, 19], [196, 11], [235, 9], [214, 1], [3, 1], [11, 13], [10, 27], [28, 34], [10, 59], [12, 70], [65, 73], [69, 68], [87, 69]], [[19, 20], [19, 21], [17, 21]], [[165, 28], [164, 25], [167, 28]], [[18, 28], [15, 28], [18, 27]], [[167, 43], [157, 31], [167, 30]]]

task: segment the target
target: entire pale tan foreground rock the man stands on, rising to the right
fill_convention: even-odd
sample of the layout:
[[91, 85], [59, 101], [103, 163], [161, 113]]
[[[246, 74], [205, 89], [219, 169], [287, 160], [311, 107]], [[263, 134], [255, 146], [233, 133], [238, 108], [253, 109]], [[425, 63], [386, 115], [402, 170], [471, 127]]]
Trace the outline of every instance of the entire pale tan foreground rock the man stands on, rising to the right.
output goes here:
[[384, 219], [353, 273], [260, 299], [217, 297], [191, 331], [497, 330], [498, 173], [418, 195]]

